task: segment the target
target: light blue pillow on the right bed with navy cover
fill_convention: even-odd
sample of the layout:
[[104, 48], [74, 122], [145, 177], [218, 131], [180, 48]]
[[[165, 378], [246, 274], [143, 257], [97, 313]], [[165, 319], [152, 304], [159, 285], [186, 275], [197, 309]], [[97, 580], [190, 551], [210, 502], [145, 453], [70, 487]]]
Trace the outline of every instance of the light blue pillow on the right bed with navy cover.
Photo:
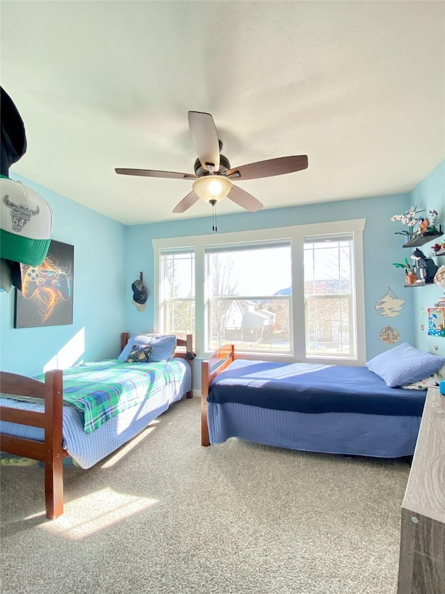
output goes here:
[[445, 364], [445, 357], [402, 343], [368, 361], [366, 367], [385, 380], [389, 388], [423, 380]]

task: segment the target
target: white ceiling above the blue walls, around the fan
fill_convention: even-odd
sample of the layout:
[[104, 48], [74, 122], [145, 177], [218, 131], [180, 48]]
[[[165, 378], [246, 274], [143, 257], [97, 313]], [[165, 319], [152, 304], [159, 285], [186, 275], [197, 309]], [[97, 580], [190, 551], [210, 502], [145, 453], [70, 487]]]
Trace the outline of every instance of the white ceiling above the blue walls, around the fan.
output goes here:
[[238, 182], [264, 208], [410, 192], [445, 157], [443, 1], [0, 8], [1, 86], [28, 139], [10, 171], [124, 224], [211, 216], [201, 201], [172, 214], [190, 180], [114, 171], [193, 173], [189, 110], [212, 114], [232, 167], [308, 155]]

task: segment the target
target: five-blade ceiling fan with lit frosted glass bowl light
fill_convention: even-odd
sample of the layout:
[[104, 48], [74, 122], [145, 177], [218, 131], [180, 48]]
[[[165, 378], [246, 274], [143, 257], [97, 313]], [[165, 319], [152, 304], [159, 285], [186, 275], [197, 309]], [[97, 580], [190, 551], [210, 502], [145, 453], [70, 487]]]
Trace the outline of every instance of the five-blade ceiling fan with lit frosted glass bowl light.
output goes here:
[[226, 197], [245, 210], [255, 212], [263, 208], [261, 202], [245, 190], [233, 185], [232, 180], [255, 180], [307, 169], [307, 155], [278, 157], [231, 168], [229, 159], [220, 154], [223, 143], [218, 139], [211, 114], [189, 111], [188, 127], [197, 153], [195, 173], [175, 173], [175, 171], [153, 169], [115, 169], [115, 172], [120, 175], [142, 175], [147, 178], [195, 180], [193, 190], [182, 198], [173, 212], [185, 212], [200, 198], [214, 207]]

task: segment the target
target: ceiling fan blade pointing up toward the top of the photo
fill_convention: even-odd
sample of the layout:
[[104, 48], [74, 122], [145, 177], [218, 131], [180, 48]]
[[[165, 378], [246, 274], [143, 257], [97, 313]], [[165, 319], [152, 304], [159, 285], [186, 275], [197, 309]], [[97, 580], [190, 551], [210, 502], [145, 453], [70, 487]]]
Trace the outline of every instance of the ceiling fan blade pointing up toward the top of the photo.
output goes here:
[[202, 111], [188, 112], [188, 127], [192, 136], [197, 158], [204, 169], [209, 169], [207, 163], [214, 165], [214, 170], [220, 169], [220, 143], [215, 122], [210, 114]]

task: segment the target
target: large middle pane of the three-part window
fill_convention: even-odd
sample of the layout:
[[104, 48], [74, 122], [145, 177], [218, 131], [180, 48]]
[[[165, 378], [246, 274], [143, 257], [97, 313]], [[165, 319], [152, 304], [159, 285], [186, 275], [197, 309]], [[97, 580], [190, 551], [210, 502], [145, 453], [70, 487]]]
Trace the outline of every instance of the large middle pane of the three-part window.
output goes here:
[[206, 249], [207, 350], [290, 351], [291, 242]]

